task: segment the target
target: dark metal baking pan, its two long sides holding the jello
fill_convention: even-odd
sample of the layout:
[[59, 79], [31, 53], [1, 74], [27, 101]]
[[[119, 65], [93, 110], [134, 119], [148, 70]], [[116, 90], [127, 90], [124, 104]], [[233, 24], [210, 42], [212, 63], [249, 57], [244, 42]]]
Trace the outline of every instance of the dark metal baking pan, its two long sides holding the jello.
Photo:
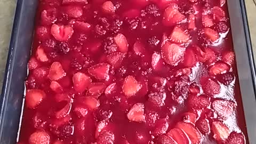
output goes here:
[[[256, 76], [244, 1], [228, 0], [228, 10], [247, 134], [249, 142], [253, 144], [256, 142]], [[19, 0], [17, 3], [0, 98], [1, 144], [14, 144], [19, 135], [24, 81], [27, 76], [27, 62], [33, 42], [36, 9], [37, 1], [35, 0]]]

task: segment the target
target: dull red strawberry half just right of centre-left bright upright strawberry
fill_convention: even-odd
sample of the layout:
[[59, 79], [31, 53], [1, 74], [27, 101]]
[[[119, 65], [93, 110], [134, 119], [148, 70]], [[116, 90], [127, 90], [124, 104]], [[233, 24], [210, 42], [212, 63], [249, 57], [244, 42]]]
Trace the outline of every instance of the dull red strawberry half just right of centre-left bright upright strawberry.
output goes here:
[[102, 93], [104, 93], [106, 87], [107, 86], [104, 83], [91, 83], [88, 86], [87, 94], [91, 97], [98, 98]]

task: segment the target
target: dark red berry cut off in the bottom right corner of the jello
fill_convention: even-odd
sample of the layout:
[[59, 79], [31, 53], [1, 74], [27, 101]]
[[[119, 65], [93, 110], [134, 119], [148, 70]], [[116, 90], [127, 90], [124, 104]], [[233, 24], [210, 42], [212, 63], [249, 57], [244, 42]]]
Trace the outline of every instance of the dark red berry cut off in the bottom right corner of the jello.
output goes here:
[[245, 137], [243, 133], [231, 132], [225, 144], [245, 144]]

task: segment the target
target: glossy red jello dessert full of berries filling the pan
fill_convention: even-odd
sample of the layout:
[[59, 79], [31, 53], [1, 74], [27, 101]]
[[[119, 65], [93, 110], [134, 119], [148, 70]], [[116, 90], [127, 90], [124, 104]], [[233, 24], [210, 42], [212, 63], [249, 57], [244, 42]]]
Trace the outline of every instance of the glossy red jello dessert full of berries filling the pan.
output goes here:
[[244, 144], [225, 0], [41, 0], [19, 144]]

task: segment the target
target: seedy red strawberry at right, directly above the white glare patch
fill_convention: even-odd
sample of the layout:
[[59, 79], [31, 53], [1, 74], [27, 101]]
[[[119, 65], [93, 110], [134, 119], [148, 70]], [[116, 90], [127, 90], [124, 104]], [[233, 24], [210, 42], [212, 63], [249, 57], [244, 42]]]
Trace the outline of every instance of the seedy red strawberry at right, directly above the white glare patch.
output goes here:
[[202, 77], [200, 79], [200, 83], [202, 85], [204, 93], [209, 95], [220, 93], [220, 85], [217, 82], [213, 81], [211, 78]]

